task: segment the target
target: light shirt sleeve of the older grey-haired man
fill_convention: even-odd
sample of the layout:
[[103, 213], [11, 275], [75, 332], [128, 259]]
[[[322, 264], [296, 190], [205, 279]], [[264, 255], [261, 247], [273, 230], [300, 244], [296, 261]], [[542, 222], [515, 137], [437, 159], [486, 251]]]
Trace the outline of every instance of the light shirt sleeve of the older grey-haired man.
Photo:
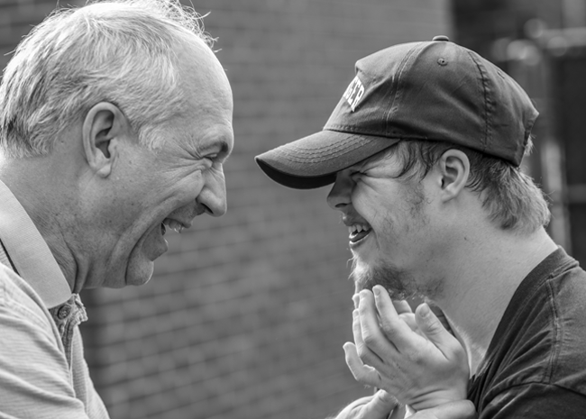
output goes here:
[[0, 418], [87, 419], [50, 319], [26, 289], [6, 279], [0, 278]]

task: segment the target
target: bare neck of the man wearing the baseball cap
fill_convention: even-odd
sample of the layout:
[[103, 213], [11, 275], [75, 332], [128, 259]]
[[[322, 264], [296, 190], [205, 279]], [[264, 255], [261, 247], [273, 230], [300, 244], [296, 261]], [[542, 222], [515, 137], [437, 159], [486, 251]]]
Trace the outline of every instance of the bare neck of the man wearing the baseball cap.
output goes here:
[[453, 265], [444, 270], [445, 287], [434, 301], [468, 352], [475, 373], [508, 303], [519, 284], [557, 249], [540, 228], [531, 234], [493, 231], [469, 236], [454, 249]]

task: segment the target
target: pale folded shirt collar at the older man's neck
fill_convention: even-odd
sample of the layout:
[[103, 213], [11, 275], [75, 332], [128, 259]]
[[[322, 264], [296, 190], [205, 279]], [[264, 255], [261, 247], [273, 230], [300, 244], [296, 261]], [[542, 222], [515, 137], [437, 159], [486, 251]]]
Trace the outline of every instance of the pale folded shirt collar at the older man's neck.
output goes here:
[[29, 214], [0, 181], [0, 240], [18, 274], [48, 308], [63, 304], [71, 288]]

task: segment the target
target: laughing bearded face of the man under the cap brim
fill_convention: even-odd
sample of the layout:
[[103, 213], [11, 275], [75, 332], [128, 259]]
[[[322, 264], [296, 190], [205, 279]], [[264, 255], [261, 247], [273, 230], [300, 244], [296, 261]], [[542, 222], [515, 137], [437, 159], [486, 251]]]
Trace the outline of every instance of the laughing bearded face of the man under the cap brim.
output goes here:
[[425, 293], [422, 269], [433, 258], [425, 179], [397, 179], [401, 169], [382, 151], [339, 172], [327, 197], [349, 229], [356, 289], [380, 284], [395, 298]]

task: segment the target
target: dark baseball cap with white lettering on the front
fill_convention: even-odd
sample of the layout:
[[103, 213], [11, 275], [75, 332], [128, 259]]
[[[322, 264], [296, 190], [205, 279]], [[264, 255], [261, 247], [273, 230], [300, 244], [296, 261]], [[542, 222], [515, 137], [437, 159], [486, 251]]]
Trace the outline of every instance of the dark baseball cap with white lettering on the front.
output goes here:
[[521, 164], [538, 112], [526, 92], [479, 54], [436, 36], [360, 59], [321, 132], [257, 156], [286, 187], [334, 183], [398, 141], [448, 141]]

